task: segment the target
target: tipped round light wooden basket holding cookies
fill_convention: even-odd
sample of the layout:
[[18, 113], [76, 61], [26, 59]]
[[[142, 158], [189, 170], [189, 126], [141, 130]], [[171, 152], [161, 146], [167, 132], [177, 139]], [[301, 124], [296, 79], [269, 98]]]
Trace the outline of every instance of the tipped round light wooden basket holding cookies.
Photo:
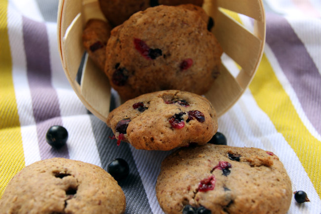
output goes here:
[[[241, 97], [252, 80], [263, 54], [265, 43], [265, 13], [261, 0], [205, 0], [203, 8], [213, 17], [212, 32], [224, 54], [239, 65], [237, 74], [221, 66], [221, 75], [204, 94], [221, 116]], [[254, 21], [248, 31], [227, 11], [248, 16]], [[60, 59], [71, 86], [85, 107], [106, 122], [111, 100], [107, 76], [84, 55], [81, 34], [90, 18], [104, 19], [97, 0], [59, 0], [58, 47]], [[79, 78], [81, 73], [81, 80]]]

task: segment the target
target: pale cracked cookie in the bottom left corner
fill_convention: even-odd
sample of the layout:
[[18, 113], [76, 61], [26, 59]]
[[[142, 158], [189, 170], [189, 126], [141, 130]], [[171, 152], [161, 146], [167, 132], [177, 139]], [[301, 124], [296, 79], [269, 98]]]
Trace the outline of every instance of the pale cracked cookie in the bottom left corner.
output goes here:
[[0, 200], [1, 214], [122, 214], [125, 195], [102, 168], [63, 158], [19, 171]]

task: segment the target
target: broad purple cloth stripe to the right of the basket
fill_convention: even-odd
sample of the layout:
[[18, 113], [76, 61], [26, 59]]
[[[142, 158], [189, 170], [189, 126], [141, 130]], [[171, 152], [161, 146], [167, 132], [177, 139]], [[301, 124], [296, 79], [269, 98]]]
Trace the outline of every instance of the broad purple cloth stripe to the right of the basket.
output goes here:
[[267, 14], [266, 42], [294, 89], [311, 124], [321, 134], [321, 76], [304, 43], [282, 16]]

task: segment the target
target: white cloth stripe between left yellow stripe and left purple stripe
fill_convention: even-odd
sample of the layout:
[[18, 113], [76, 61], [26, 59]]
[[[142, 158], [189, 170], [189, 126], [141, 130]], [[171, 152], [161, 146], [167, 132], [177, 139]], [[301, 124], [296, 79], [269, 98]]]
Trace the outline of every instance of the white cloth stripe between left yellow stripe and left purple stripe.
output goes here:
[[26, 166], [40, 161], [36, 122], [27, 78], [27, 62], [23, 43], [22, 16], [8, 3], [8, 36], [12, 59], [12, 78], [21, 126]]

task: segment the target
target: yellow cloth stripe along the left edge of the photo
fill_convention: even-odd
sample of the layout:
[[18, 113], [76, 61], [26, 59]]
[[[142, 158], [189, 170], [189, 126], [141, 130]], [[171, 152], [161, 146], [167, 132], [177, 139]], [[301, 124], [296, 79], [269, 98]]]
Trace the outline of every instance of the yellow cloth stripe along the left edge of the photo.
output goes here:
[[0, 1], [0, 197], [10, 181], [25, 166], [21, 128], [12, 80], [12, 62], [7, 29], [7, 0]]

